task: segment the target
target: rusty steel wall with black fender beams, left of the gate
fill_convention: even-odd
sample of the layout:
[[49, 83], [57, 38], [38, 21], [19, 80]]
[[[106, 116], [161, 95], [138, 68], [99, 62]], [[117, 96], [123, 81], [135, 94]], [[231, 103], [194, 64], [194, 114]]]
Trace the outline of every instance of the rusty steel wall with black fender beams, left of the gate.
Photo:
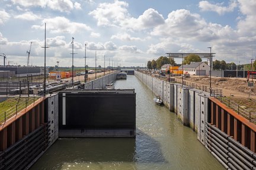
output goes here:
[[0, 127], [0, 169], [25, 169], [49, 145], [45, 98], [14, 115]]

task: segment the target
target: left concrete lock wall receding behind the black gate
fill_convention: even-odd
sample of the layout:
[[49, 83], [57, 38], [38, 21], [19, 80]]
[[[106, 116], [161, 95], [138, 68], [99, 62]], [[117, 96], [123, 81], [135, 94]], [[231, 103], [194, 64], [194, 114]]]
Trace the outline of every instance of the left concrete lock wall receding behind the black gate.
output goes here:
[[106, 84], [110, 84], [116, 80], [116, 75], [118, 73], [120, 73], [120, 71], [89, 81], [85, 83], [84, 89], [104, 89]]

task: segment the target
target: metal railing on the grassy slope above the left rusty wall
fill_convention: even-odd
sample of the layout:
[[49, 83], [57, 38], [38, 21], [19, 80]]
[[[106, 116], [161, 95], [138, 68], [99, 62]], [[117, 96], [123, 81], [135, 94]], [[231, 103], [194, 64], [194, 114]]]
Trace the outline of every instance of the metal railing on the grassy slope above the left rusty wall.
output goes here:
[[34, 96], [33, 97], [21, 97], [21, 98], [25, 98], [25, 100], [23, 100], [22, 102], [18, 102], [15, 106], [9, 108], [8, 110], [0, 111], [0, 125], [2, 123], [5, 123], [12, 116], [17, 115], [18, 112], [20, 112], [21, 110], [27, 109], [27, 106], [29, 106], [32, 103], [35, 103], [36, 100], [38, 99], [38, 97], [34, 97]]

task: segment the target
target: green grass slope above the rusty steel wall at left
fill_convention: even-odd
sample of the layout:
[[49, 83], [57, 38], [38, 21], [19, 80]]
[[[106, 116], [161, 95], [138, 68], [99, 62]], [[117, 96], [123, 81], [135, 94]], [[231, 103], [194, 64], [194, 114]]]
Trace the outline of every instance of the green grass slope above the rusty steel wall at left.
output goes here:
[[39, 99], [39, 97], [9, 97], [4, 102], [1, 102], [0, 124], [4, 122], [5, 118], [9, 119], [9, 117], [15, 115], [17, 112], [20, 112], [37, 99]]

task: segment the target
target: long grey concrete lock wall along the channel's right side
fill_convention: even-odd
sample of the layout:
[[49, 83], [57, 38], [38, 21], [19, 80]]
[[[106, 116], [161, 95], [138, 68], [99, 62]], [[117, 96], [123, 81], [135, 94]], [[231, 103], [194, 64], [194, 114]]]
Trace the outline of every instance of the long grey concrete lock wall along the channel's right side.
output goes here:
[[138, 71], [135, 71], [135, 76], [155, 95], [161, 97], [165, 106], [177, 114], [184, 126], [197, 132], [197, 139], [204, 144], [204, 126], [209, 113], [209, 93], [181, 84], [169, 83]]

